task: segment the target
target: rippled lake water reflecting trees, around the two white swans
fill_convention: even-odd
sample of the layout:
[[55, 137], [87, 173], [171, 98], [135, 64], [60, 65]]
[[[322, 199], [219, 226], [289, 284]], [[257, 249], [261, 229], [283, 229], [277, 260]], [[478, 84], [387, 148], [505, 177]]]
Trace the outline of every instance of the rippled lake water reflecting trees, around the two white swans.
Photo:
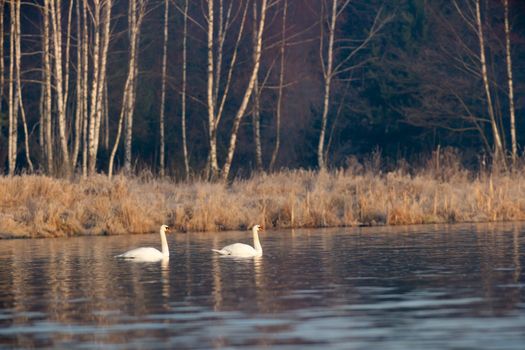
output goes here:
[[[0, 348], [524, 349], [525, 224], [0, 240]], [[159, 247], [160, 248], [160, 247]]]

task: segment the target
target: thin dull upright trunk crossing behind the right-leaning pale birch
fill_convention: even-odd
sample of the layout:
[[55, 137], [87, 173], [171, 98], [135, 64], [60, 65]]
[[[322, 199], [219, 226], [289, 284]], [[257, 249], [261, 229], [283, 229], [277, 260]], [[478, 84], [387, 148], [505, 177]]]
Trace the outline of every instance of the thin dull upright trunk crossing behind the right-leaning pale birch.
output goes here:
[[[253, 47], [257, 45], [257, 1], [253, 2]], [[258, 57], [256, 51], [253, 52], [253, 64], [255, 65]], [[255, 81], [253, 86], [253, 140], [255, 146], [255, 165], [257, 171], [263, 170], [262, 164], [262, 147], [261, 147], [261, 91], [259, 91], [259, 74], [255, 75]]]

